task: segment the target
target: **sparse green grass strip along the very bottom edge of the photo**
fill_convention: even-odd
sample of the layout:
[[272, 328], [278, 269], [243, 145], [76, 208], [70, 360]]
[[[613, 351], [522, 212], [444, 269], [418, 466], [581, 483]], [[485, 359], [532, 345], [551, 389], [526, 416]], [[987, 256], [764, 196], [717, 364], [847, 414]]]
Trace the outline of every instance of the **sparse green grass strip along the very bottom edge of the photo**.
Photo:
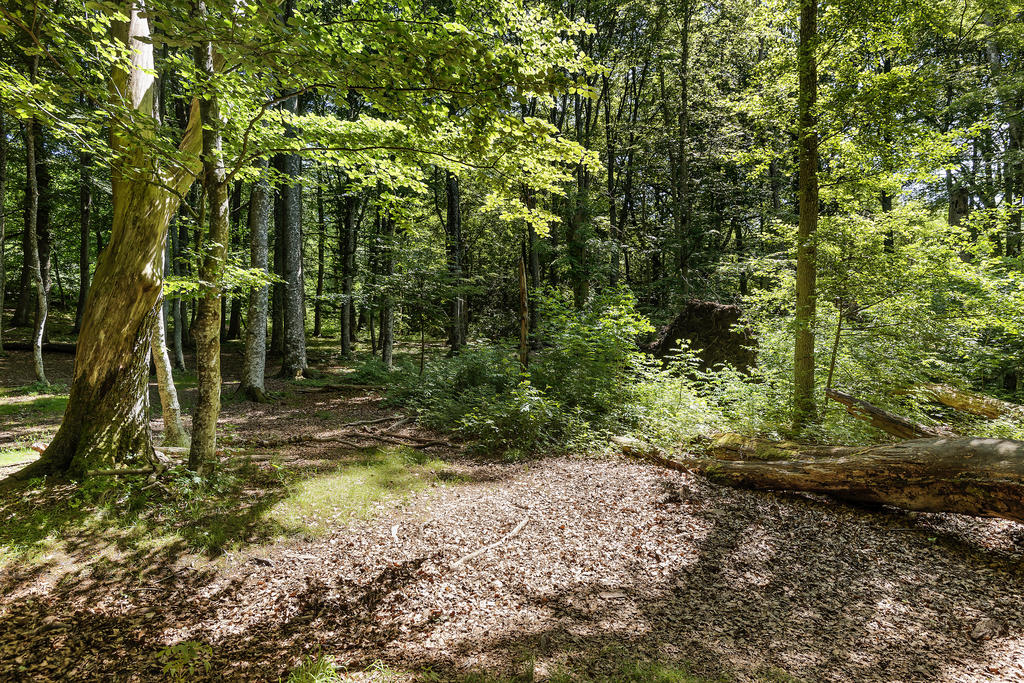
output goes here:
[[[601, 669], [609, 673], [588, 673], [592, 667], [555, 667], [546, 674], [539, 673], [536, 659], [530, 656], [516, 667], [512, 674], [492, 674], [470, 672], [458, 675], [441, 675], [431, 670], [408, 671], [376, 661], [360, 670], [348, 670], [336, 664], [330, 656], [317, 655], [304, 659], [293, 669], [286, 679], [288, 683], [434, 683], [456, 681], [457, 683], [712, 683], [726, 679], [709, 679], [691, 674], [689, 667], [680, 661], [654, 661], [638, 659], [625, 650], [603, 655]], [[772, 680], [772, 679], [766, 679]], [[795, 680], [795, 679], [792, 679]]]

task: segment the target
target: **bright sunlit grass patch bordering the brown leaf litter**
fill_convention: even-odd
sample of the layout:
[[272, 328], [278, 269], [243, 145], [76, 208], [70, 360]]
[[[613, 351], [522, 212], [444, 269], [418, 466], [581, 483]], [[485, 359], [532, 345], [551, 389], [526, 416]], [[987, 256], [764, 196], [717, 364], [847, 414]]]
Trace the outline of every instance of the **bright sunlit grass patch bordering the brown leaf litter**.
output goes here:
[[353, 517], [368, 516], [385, 498], [420, 490], [443, 468], [443, 462], [406, 446], [370, 449], [333, 472], [290, 484], [287, 498], [267, 517], [283, 528], [323, 533]]

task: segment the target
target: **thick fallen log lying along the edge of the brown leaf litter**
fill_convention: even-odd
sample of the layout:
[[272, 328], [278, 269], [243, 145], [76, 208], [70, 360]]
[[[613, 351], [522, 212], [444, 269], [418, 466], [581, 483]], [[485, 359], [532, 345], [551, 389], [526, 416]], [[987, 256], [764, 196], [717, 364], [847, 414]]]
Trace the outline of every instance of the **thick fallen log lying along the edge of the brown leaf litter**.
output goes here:
[[825, 494], [855, 503], [1024, 522], [1024, 441], [938, 437], [813, 446], [726, 434], [711, 446], [713, 458], [676, 459], [634, 439], [613, 440], [628, 455], [733, 488]]

